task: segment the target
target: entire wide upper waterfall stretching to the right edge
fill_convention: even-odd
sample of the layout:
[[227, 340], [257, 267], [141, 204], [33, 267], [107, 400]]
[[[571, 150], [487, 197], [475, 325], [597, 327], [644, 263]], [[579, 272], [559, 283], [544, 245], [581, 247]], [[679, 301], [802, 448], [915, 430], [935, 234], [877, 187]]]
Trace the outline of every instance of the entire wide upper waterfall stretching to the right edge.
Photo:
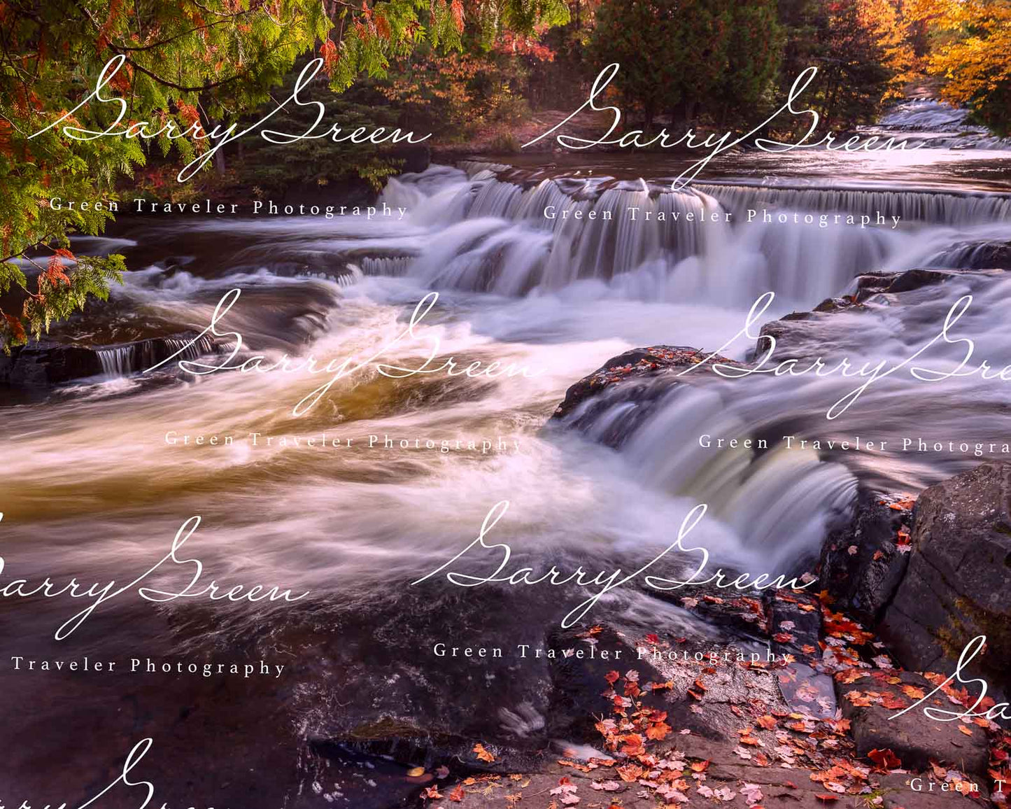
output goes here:
[[[960, 114], [909, 114], [942, 112]], [[1011, 237], [1011, 194], [976, 190], [710, 181], [672, 191], [464, 161], [392, 179], [381, 198], [408, 207], [416, 230], [388, 251], [351, 254], [364, 275], [509, 296], [580, 284], [580, 294], [747, 306], [773, 289], [808, 308], [859, 273], [979, 263], [985, 251], [955, 248]]]

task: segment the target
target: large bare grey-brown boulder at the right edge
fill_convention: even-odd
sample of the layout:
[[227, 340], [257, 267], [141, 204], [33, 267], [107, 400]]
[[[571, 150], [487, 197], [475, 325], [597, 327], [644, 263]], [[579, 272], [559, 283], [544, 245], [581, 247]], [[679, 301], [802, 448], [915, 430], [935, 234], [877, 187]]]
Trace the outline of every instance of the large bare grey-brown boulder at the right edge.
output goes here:
[[926, 489], [914, 512], [909, 567], [880, 625], [897, 659], [954, 670], [963, 647], [987, 636], [963, 669], [999, 692], [1011, 686], [1011, 463], [988, 461]]

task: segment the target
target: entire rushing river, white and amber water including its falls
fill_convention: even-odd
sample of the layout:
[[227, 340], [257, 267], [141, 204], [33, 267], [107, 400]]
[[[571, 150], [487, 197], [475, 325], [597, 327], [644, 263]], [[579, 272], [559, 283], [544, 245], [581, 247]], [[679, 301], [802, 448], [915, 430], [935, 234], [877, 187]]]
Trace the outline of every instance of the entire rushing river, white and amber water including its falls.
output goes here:
[[[617, 450], [593, 441], [592, 430], [545, 429], [566, 387], [610, 357], [660, 343], [725, 346], [766, 291], [776, 295], [763, 319], [772, 320], [852, 292], [861, 272], [980, 268], [981, 250], [1011, 240], [1006, 152], [968, 157], [945, 147], [894, 163], [880, 156], [832, 163], [809, 153], [773, 165], [768, 157], [735, 155], [719, 176], [682, 192], [668, 188], [680, 167], [654, 158], [622, 158], [621, 171], [602, 159], [593, 173], [555, 164], [433, 166], [389, 181], [380, 202], [407, 208], [402, 219], [130, 217], [115, 240], [88, 243], [124, 252], [134, 269], [95, 317], [57, 334], [107, 346], [99, 352], [103, 374], [3, 411], [4, 582], [129, 581], [199, 515], [183, 555], [203, 563], [201, 581], [310, 595], [228, 606], [154, 604], [127, 593], [59, 641], [57, 628], [83, 603], [0, 602], [8, 657], [87, 654], [125, 660], [127, 668], [131, 657], [286, 666], [277, 679], [183, 676], [172, 689], [163, 675], [53, 672], [50, 687], [37, 675], [5, 671], [8, 699], [32, 706], [9, 722], [9, 733], [26, 740], [7, 762], [13, 793], [37, 802], [94, 794], [101, 779], [82, 774], [111, 773], [116, 756], [152, 735], [146, 775], [175, 800], [314, 806], [323, 796], [385, 805], [370, 796], [413, 789], [402, 769], [328, 747], [329, 740], [386, 716], [517, 748], [543, 743], [528, 744], [503, 719], [518, 705], [543, 711], [543, 663], [448, 664], [432, 647], [439, 640], [536, 646], [589, 593], [463, 590], [445, 579], [407, 587], [463, 550], [496, 503], [509, 508], [489, 539], [512, 547], [509, 571], [634, 569], [666, 548], [705, 502], [710, 511], [692, 544], [708, 549], [711, 567], [777, 573], [816, 551], [859, 485], [918, 490], [979, 462], [972, 450], [901, 450], [904, 437], [1000, 444], [1011, 432], [1004, 383], [977, 377], [929, 383], [895, 374], [832, 421], [825, 413], [853, 380], [766, 376], [680, 386]], [[777, 182], [766, 176], [773, 173]], [[763, 209], [771, 222], [760, 213], [746, 221], [748, 210]], [[878, 211], [885, 224], [834, 220], [836, 213], [874, 219]], [[779, 213], [789, 220], [778, 221]], [[894, 229], [893, 215], [901, 216]], [[174, 364], [137, 373], [151, 356], [143, 341], [201, 332], [234, 288], [242, 293], [220, 331], [242, 336], [240, 360], [365, 359], [382, 351], [383, 362], [418, 367], [438, 346], [441, 359], [431, 367], [452, 356], [459, 367], [498, 362], [530, 375], [394, 379], [370, 366], [295, 416], [327, 375], [193, 376]], [[415, 339], [386, 348], [433, 290], [438, 301]], [[1011, 281], [1000, 276], [968, 275], [901, 303], [880, 296], [865, 310], [826, 317], [814, 335], [829, 358], [899, 362], [937, 334], [959, 296], [973, 294], [959, 334], [976, 339], [978, 359], [1000, 367], [1011, 362], [1002, 311], [1009, 293]], [[173, 350], [187, 342], [174, 339]], [[122, 346], [129, 341], [141, 342]], [[188, 356], [218, 364], [237, 343], [235, 335], [201, 343]], [[753, 348], [741, 339], [723, 353], [744, 359]], [[939, 346], [931, 367], [952, 368], [962, 354], [963, 346]], [[616, 399], [602, 422], [622, 423], [635, 407]], [[891, 446], [829, 455], [776, 445], [757, 453], [704, 447], [704, 435], [860, 435]], [[314, 446], [308, 437], [318, 437]], [[471, 569], [485, 574], [499, 558], [470, 555], [477, 556]], [[672, 571], [684, 562], [667, 557]], [[178, 589], [192, 576], [166, 567], [145, 583]], [[714, 642], [729, 637], [634, 585], [593, 611], [638, 631], [662, 625]], [[452, 698], [464, 692], [468, 700]], [[68, 731], [79, 742], [65, 768], [51, 756]], [[218, 754], [213, 767], [208, 738]]]

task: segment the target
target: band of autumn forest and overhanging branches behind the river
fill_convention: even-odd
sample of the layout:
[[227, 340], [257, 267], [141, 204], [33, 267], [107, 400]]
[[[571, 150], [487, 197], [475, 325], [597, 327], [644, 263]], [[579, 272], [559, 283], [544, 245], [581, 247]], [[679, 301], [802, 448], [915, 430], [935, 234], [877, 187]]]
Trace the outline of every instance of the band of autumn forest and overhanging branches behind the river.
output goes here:
[[[605, 100], [627, 122], [675, 137], [763, 120], [812, 66], [804, 100], [826, 129], [870, 122], [919, 87], [1011, 130], [1011, 0], [0, 0], [0, 47], [4, 351], [107, 296], [124, 269], [118, 256], [70, 250], [72, 234], [98, 234], [111, 214], [55, 210], [55, 196], [374, 190], [417, 164], [396, 148], [251, 137], [177, 181], [180, 158], [207, 141], [170, 137], [172, 126], [192, 134], [256, 121], [313, 58], [325, 70], [300, 95], [324, 102], [327, 121], [432, 132], [423, 162], [430, 150], [518, 153], [614, 62]], [[32, 137], [74, 110], [114, 57], [125, 125], [150, 121], [166, 134], [75, 140], [61, 125]], [[110, 107], [89, 104], [64, 123], [104, 129]], [[289, 105], [272, 122], [303, 131], [314, 117]]]

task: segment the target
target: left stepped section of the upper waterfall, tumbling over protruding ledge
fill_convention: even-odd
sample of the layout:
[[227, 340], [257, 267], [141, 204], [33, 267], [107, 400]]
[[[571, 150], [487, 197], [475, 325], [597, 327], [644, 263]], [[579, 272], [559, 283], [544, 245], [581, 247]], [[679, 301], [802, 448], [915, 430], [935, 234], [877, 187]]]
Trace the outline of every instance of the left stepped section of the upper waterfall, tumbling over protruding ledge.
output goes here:
[[721, 232], [712, 197], [641, 181], [544, 179], [525, 188], [488, 176], [460, 194], [469, 201], [465, 219], [409, 269], [433, 286], [517, 295], [607, 281], [650, 261], [704, 253], [708, 235]]

